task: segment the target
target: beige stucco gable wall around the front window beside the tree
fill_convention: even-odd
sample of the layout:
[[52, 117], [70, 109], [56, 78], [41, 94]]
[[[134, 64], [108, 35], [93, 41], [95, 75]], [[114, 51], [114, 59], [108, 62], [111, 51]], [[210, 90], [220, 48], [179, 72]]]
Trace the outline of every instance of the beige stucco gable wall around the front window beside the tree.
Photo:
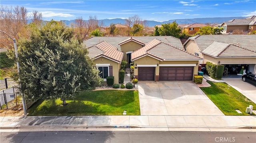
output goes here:
[[119, 69], [120, 69], [120, 64], [116, 63], [114, 61], [111, 61], [109, 59], [106, 59], [104, 57], [100, 57], [98, 59], [93, 60], [94, 64], [110, 64], [113, 68], [113, 76], [114, 76], [114, 83], [118, 84], [119, 83]]

